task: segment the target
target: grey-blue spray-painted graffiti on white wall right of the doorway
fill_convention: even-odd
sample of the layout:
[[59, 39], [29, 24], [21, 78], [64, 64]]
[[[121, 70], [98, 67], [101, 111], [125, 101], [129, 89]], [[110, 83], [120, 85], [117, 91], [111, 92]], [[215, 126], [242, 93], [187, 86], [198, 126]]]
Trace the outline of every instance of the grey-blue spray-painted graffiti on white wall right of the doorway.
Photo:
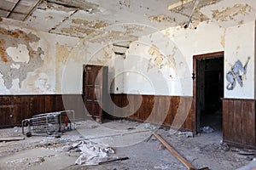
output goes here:
[[236, 87], [236, 82], [243, 87], [243, 81], [247, 75], [247, 65], [250, 60], [250, 57], [247, 58], [245, 65], [241, 64], [241, 61], [238, 59], [235, 65], [231, 66], [231, 70], [226, 74], [226, 79], [229, 82], [227, 85], [228, 90], [233, 90]]

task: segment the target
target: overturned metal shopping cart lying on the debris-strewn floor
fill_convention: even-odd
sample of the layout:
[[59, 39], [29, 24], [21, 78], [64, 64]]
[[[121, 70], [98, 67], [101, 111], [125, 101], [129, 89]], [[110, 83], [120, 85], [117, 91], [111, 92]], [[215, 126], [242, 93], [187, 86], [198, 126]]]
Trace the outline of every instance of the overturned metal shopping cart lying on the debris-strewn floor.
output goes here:
[[38, 114], [22, 121], [22, 133], [27, 137], [32, 133], [61, 134], [72, 129], [75, 129], [73, 110]]

